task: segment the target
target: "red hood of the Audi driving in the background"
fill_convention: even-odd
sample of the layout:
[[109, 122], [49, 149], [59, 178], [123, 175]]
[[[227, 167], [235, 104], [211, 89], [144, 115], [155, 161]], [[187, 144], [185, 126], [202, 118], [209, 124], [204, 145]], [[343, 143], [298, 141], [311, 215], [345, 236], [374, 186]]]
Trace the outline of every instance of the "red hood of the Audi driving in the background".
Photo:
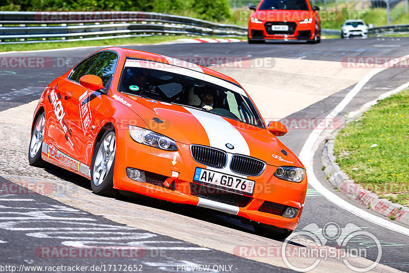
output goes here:
[[315, 12], [311, 10], [258, 10], [252, 17], [262, 21], [301, 21], [314, 18]]

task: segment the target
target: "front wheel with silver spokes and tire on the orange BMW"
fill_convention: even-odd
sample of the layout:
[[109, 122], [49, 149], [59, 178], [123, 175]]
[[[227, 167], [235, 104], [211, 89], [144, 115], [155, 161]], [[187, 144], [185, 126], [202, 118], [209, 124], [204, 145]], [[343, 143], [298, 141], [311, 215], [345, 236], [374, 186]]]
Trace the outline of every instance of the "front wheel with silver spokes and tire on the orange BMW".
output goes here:
[[113, 188], [115, 151], [115, 131], [108, 129], [95, 145], [91, 161], [91, 188], [98, 195], [112, 197], [118, 193], [118, 190]]

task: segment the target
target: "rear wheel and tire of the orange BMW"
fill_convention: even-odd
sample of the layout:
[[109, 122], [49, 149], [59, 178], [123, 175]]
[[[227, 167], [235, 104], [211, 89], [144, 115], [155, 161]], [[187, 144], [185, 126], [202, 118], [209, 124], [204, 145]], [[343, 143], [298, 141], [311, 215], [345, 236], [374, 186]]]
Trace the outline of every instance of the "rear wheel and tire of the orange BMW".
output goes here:
[[46, 115], [41, 112], [34, 121], [31, 131], [31, 140], [29, 146], [29, 164], [34, 167], [45, 168], [47, 162], [41, 158], [42, 140], [44, 138], [44, 126], [46, 125]]

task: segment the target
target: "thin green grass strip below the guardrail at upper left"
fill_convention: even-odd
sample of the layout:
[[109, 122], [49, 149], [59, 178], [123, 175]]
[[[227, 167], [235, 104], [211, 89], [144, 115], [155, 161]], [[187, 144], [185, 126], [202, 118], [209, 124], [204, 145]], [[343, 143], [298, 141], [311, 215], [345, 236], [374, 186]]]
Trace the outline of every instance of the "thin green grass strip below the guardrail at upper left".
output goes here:
[[[42, 42], [42, 43], [17, 43], [17, 44], [0, 44], [0, 52], [6, 51], [26, 51], [26, 50], [44, 50], [44, 49], [59, 49], [59, 48], [75, 48], [75, 47], [98, 47], [105, 45], [131, 45], [131, 44], [153, 44], [160, 42], [174, 41], [182, 38], [194, 38], [192, 36], [147, 36], [147, 37], [131, 37], [118, 39], [104, 40], [83, 40], [73, 42]], [[202, 37], [204, 38], [204, 37]], [[206, 37], [220, 38], [220, 37]], [[247, 39], [247, 37], [231, 37], [236, 39]]]

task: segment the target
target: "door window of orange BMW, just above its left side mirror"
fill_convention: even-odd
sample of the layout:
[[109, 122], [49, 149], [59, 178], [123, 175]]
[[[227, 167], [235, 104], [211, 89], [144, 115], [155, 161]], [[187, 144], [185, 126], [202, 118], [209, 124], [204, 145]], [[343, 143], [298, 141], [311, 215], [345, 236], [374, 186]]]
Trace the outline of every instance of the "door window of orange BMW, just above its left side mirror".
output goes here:
[[87, 74], [96, 75], [102, 79], [102, 83], [106, 85], [109, 79], [113, 76], [118, 63], [118, 56], [115, 53], [104, 52], [92, 64]]

